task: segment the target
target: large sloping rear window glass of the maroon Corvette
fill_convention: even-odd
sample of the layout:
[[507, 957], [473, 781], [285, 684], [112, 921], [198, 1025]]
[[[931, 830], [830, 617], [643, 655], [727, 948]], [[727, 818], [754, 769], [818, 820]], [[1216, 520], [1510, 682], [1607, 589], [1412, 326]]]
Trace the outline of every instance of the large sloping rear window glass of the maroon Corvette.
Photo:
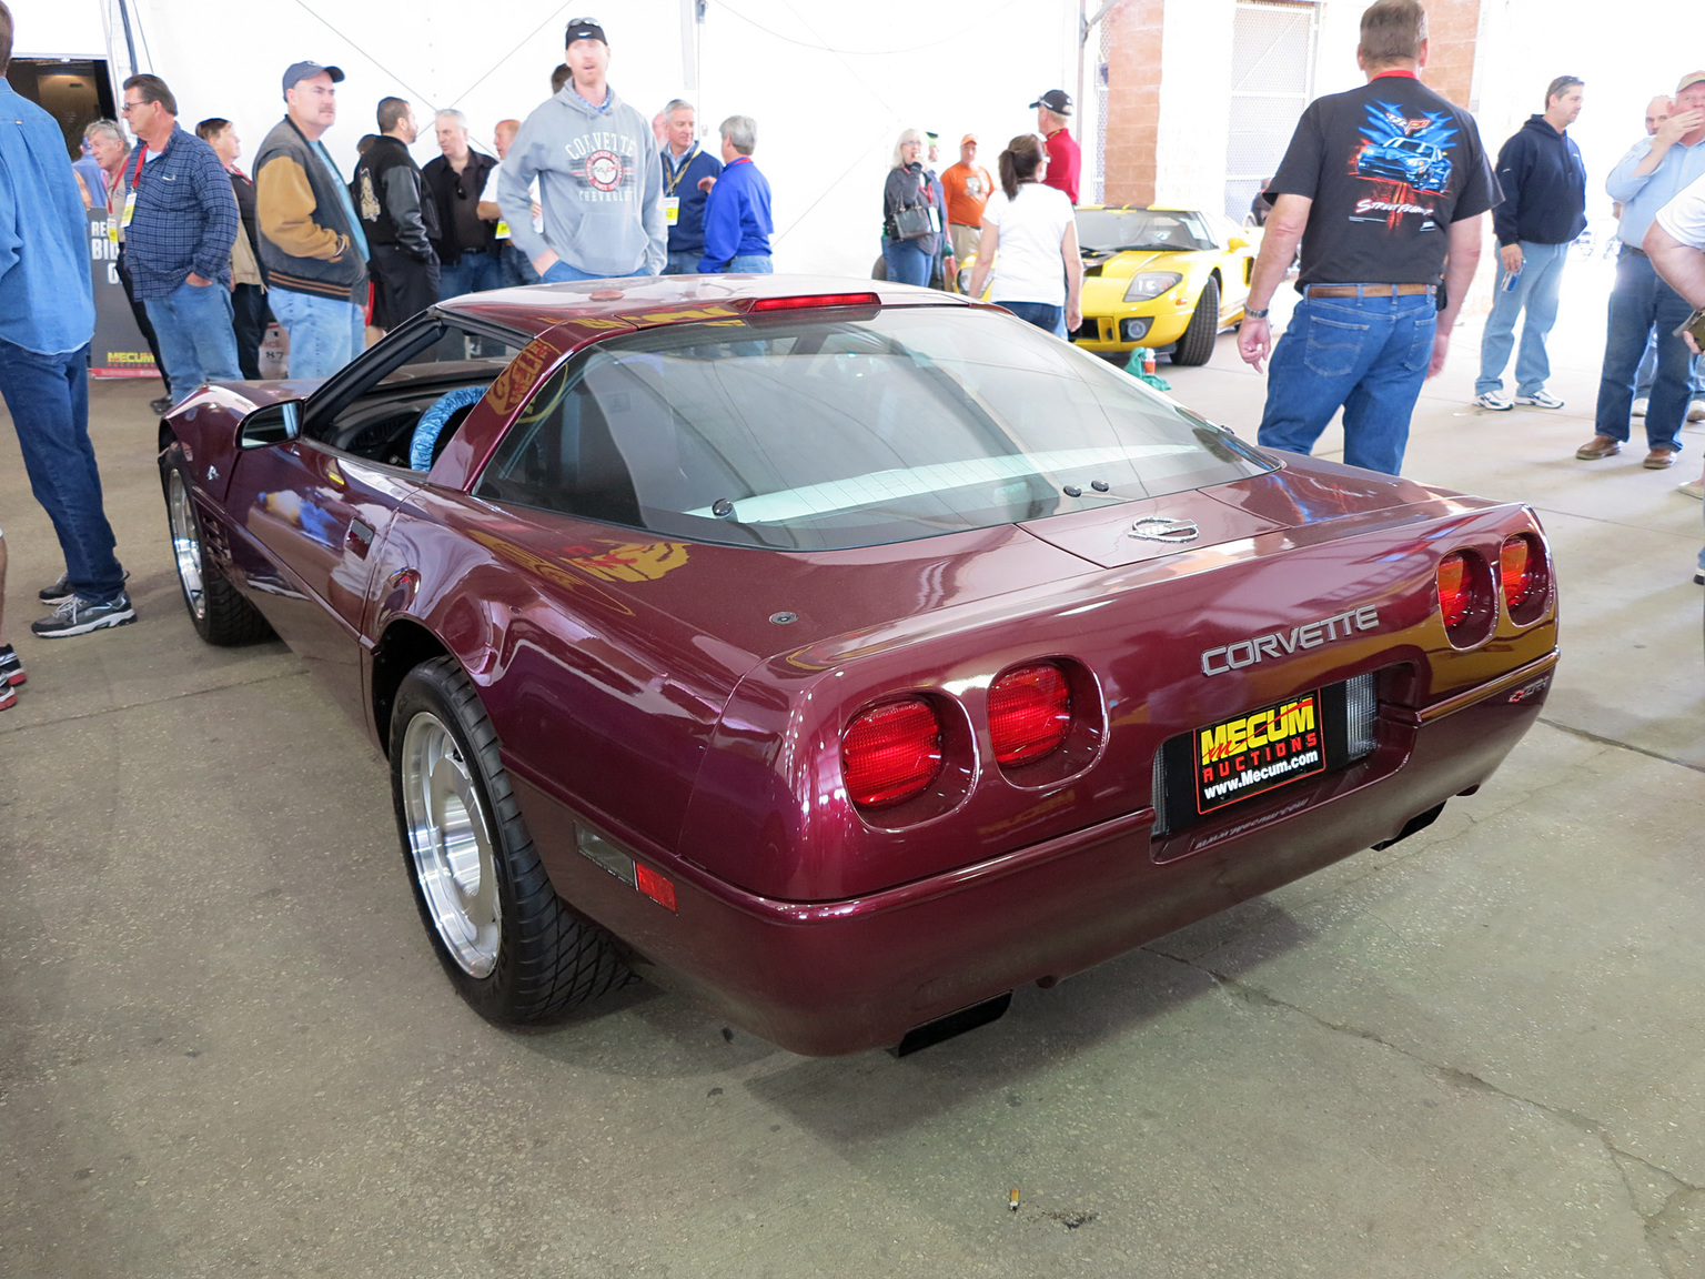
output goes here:
[[730, 546], [844, 549], [1270, 471], [1229, 431], [1004, 312], [677, 324], [552, 373], [479, 496]]

